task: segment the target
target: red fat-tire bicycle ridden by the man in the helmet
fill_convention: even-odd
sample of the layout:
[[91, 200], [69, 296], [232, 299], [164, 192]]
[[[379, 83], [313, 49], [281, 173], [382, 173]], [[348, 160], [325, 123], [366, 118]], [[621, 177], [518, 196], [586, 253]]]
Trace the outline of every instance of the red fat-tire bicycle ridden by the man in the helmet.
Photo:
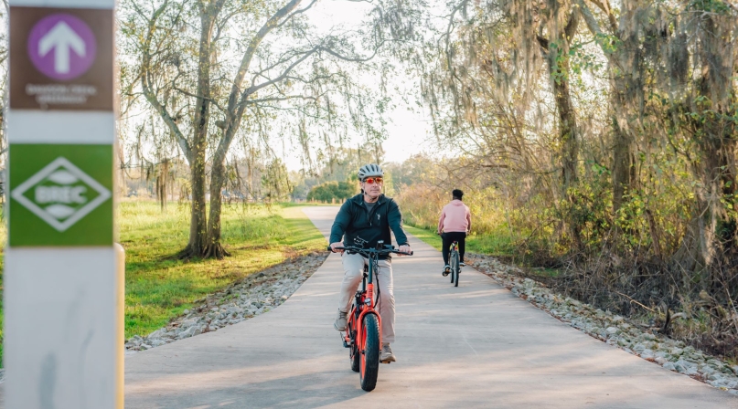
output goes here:
[[[336, 249], [369, 258], [369, 263], [364, 265], [361, 289], [357, 291], [354, 303], [348, 311], [346, 331], [341, 334], [343, 346], [349, 349], [351, 370], [358, 372], [361, 389], [369, 392], [377, 386], [381, 350], [381, 318], [379, 311], [375, 309], [375, 299], [379, 299], [379, 291], [375, 295], [374, 274], [380, 267], [380, 256], [391, 253], [412, 256], [412, 252], [404, 253], [393, 246], [385, 246], [382, 240], [377, 242], [376, 248], [346, 246]], [[328, 247], [328, 250], [331, 248]]]

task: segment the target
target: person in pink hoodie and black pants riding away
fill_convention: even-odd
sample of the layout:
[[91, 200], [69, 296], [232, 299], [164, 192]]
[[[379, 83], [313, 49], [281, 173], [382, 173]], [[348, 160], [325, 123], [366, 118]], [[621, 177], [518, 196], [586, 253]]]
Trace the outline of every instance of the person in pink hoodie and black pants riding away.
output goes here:
[[469, 207], [461, 201], [462, 197], [464, 197], [464, 192], [454, 189], [451, 194], [454, 196], [454, 200], [444, 206], [444, 210], [441, 211], [441, 218], [438, 219], [438, 234], [441, 235], [444, 241], [442, 248], [445, 264], [444, 277], [448, 276], [448, 273], [451, 272], [451, 267], [448, 265], [448, 253], [450, 252], [452, 243], [458, 242], [459, 265], [465, 266], [464, 250], [466, 234], [472, 229], [472, 213], [469, 211]]

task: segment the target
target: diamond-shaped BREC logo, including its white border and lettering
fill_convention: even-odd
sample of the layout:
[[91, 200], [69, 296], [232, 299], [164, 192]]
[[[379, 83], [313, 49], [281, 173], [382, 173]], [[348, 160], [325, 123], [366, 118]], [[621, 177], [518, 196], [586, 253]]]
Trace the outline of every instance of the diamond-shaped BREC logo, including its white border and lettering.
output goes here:
[[111, 197], [111, 192], [59, 157], [13, 190], [11, 196], [63, 232]]

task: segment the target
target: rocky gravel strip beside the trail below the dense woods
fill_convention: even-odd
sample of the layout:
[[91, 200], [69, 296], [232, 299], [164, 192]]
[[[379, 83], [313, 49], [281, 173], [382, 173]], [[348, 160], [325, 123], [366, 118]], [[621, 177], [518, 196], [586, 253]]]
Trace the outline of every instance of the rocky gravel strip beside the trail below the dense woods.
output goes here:
[[738, 395], [738, 365], [730, 366], [727, 362], [687, 346], [683, 341], [640, 328], [609, 310], [596, 309], [579, 300], [556, 294], [538, 281], [520, 277], [522, 271], [518, 267], [505, 265], [495, 257], [469, 254], [465, 258], [469, 266], [494, 278], [510, 292], [548, 312], [553, 318], [669, 371], [685, 374]]

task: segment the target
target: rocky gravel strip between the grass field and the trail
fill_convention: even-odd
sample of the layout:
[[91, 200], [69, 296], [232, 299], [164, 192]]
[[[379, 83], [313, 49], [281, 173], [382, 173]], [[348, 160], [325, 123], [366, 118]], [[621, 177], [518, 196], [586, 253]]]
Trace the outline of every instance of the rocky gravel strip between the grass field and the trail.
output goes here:
[[150, 350], [177, 340], [219, 330], [280, 306], [323, 265], [328, 252], [294, 257], [243, 278], [228, 288], [195, 301], [193, 309], [145, 337], [134, 335], [125, 342], [126, 354]]

